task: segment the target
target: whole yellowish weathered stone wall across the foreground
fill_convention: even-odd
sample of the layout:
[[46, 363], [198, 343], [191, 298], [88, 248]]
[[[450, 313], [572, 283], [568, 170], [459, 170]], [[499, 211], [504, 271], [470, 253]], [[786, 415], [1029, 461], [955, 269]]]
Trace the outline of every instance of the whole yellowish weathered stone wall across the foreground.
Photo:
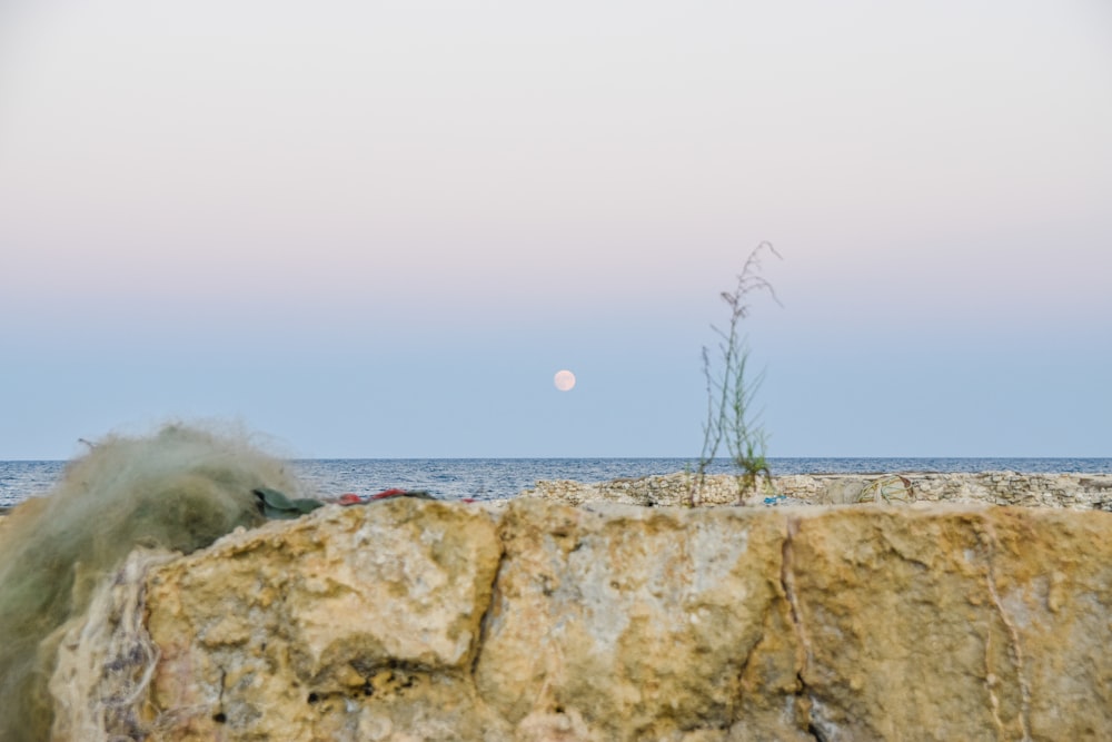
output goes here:
[[1112, 739], [1102, 512], [396, 499], [111, 591], [56, 739]]

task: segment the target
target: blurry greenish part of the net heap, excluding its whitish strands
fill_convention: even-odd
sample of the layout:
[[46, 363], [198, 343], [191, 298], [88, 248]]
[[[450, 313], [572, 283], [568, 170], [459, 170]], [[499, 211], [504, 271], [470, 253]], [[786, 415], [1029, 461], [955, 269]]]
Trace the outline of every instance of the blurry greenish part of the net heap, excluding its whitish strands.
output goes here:
[[133, 548], [189, 553], [258, 525], [259, 487], [299, 491], [246, 436], [171, 425], [98, 443], [16, 507], [0, 535], [0, 740], [49, 739], [63, 625]]

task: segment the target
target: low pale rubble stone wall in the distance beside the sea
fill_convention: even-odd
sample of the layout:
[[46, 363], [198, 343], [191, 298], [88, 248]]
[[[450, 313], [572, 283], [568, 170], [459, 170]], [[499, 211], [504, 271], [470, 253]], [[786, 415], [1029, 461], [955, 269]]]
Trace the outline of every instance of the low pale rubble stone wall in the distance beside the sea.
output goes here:
[[[536, 483], [524, 494], [572, 505], [614, 502], [631, 505], [682, 505], [694, 497], [696, 505], [725, 505], [738, 501], [737, 478], [707, 476], [696, 486], [687, 473], [613, 479], [585, 484], [568, 479]], [[765, 497], [786, 497], [796, 504], [846, 505], [858, 502], [959, 502], [1112, 511], [1112, 475], [1021, 474], [980, 472], [944, 474], [906, 472], [891, 474], [800, 474], [777, 476], [756, 493], [741, 493], [744, 502], [762, 504]]]

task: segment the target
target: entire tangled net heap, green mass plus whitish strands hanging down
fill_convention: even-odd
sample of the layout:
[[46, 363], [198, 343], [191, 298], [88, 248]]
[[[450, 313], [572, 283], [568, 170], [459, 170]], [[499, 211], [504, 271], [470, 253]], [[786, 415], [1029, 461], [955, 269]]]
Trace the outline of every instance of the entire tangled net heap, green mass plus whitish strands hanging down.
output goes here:
[[[12, 511], [0, 534], [0, 740], [41, 742], [52, 726], [60, 740], [143, 739], [157, 662], [137, 607], [146, 570], [260, 524], [260, 488], [300, 492], [246, 435], [168, 426], [102, 441]], [[56, 704], [67, 709], [57, 726]]]

